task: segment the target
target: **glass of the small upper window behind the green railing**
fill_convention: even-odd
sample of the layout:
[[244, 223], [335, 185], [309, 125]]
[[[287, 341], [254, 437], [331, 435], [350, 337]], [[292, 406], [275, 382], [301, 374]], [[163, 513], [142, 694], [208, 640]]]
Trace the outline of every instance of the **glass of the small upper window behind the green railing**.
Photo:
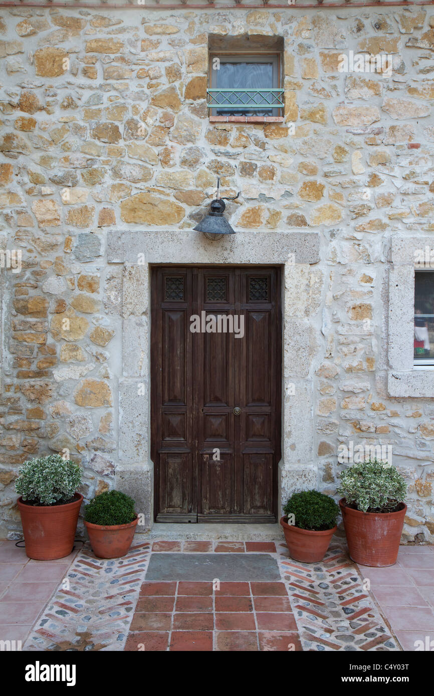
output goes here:
[[[230, 63], [221, 62], [220, 69], [217, 70], [217, 89], [272, 89], [273, 85], [273, 63]], [[245, 95], [235, 93], [231, 95], [234, 103], [245, 102]], [[267, 102], [260, 95], [255, 96], [256, 104], [266, 104]], [[266, 109], [217, 109], [217, 116], [271, 116], [272, 107]]]

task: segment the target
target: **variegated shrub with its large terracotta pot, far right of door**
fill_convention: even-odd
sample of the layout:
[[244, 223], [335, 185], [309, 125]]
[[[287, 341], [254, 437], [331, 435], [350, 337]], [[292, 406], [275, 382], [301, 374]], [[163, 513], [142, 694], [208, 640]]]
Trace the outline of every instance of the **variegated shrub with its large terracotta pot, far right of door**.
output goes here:
[[369, 459], [340, 475], [338, 493], [350, 557], [385, 567], [396, 563], [403, 531], [407, 484], [395, 466]]

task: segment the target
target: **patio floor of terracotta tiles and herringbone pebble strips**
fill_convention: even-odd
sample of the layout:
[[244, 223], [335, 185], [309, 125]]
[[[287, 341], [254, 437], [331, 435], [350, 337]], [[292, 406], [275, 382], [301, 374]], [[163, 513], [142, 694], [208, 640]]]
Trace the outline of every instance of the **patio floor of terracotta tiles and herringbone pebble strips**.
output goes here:
[[319, 564], [293, 561], [280, 539], [136, 535], [123, 559], [85, 545], [54, 562], [0, 542], [0, 639], [24, 650], [396, 651], [426, 636], [434, 547], [403, 546], [377, 569], [357, 568], [339, 539]]

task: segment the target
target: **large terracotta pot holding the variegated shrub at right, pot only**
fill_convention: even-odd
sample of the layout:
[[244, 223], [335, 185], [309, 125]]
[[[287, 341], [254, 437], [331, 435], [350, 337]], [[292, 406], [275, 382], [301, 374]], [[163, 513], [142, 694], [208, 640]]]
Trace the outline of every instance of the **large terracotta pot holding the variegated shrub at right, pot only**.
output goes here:
[[398, 512], [361, 512], [339, 500], [350, 557], [361, 565], [382, 568], [396, 563], [407, 505]]

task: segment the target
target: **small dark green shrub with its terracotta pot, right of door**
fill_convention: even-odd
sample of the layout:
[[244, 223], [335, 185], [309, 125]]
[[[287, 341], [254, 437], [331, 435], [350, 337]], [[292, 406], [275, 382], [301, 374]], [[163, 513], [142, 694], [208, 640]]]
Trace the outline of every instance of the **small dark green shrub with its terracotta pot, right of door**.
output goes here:
[[284, 513], [280, 523], [291, 558], [318, 563], [337, 529], [339, 507], [333, 498], [319, 491], [294, 493], [284, 506]]

